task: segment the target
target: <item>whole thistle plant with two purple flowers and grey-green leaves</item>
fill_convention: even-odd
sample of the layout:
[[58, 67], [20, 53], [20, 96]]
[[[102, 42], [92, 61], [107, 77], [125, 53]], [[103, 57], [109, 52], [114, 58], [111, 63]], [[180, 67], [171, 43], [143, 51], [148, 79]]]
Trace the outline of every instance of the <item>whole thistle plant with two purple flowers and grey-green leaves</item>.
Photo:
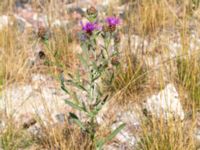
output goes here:
[[[65, 80], [62, 76], [61, 88], [70, 95], [71, 99], [67, 99], [66, 103], [77, 110], [77, 113], [86, 116], [83, 119], [80, 115], [70, 112], [70, 122], [76, 123], [89, 136], [93, 146], [100, 150], [106, 142], [112, 140], [121, 131], [125, 124], [121, 124], [109, 136], [98, 139], [97, 115], [110, 99], [109, 94], [106, 94], [101, 88], [101, 80], [106, 75], [106, 81], [111, 84], [114, 70], [119, 65], [117, 26], [120, 22], [116, 17], [108, 17], [104, 21], [104, 25], [100, 26], [97, 22], [97, 16], [94, 7], [87, 10], [88, 22], [81, 22], [80, 44], [82, 53], [78, 55], [81, 64], [80, 69], [77, 70], [75, 75], [68, 74], [68, 80]], [[114, 49], [111, 50], [111, 47]], [[83, 93], [84, 96], [78, 96], [78, 91]]]

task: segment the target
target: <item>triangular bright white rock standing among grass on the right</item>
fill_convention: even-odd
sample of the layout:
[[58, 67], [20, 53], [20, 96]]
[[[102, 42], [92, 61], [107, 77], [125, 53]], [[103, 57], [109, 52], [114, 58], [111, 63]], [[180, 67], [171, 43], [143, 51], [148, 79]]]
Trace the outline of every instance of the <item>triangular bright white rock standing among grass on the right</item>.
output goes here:
[[153, 95], [147, 99], [144, 108], [155, 117], [163, 117], [165, 120], [169, 118], [184, 119], [184, 111], [182, 109], [178, 92], [173, 84], [168, 84], [157, 95]]

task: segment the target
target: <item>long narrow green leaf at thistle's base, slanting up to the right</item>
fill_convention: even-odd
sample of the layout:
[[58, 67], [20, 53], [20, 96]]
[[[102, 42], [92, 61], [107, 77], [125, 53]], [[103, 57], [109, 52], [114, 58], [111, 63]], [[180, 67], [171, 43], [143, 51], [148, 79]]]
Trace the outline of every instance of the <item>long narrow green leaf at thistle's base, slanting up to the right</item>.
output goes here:
[[125, 123], [122, 123], [117, 129], [115, 129], [109, 136], [107, 136], [105, 139], [101, 139], [97, 141], [96, 147], [97, 150], [102, 150], [103, 146], [111, 141], [123, 128], [125, 127]]

